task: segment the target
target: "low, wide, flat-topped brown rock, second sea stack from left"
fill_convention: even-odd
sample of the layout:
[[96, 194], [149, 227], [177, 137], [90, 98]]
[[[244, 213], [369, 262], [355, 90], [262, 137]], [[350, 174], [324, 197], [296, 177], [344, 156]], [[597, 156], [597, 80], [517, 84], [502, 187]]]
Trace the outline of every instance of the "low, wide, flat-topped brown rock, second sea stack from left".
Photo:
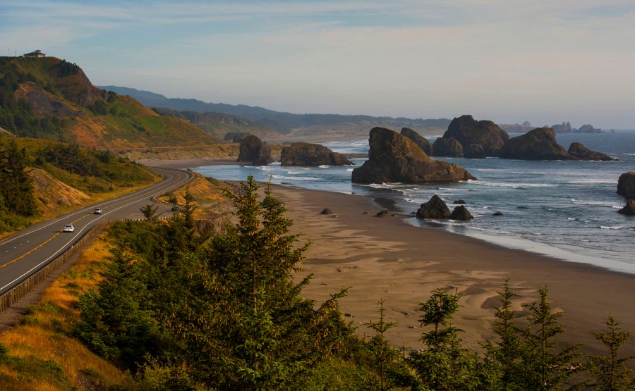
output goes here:
[[294, 142], [282, 148], [282, 166], [351, 166], [353, 162], [320, 144]]

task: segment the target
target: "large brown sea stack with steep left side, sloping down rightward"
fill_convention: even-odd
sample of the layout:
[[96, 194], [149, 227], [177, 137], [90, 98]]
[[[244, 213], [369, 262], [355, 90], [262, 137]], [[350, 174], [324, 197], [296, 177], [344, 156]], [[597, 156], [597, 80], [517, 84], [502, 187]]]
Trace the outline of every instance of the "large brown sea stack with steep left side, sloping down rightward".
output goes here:
[[354, 183], [456, 182], [476, 179], [456, 164], [435, 161], [415, 142], [386, 128], [370, 130], [368, 160], [355, 168]]

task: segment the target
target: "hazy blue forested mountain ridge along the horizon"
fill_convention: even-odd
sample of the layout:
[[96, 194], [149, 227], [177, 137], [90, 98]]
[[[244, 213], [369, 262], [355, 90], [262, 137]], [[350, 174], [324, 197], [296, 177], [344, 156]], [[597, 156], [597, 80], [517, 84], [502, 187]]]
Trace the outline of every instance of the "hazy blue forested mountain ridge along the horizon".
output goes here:
[[[450, 120], [447, 118], [437, 119], [421, 119], [421, 118], [393, 118], [393, 117], [375, 117], [364, 115], [341, 115], [341, 114], [294, 114], [281, 111], [273, 111], [258, 106], [247, 106], [244, 104], [215, 104], [206, 103], [198, 99], [181, 99], [167, 98], [162, 94], [156, 94], [150, 91], [141, 91], [129, 87], [117, 87], [113, 85], [100, 86], [99, 88], [107, 91], [113, 91], [117, 94], [129, 95], [137, 99], [148, 107], [164, 107], [177, 111], [197, 111], [205, 113], [212, 111], [217, 113], [225, 113], [231, 116], [240, 116], [258, 123], [266, 128], [278, 130], [282, 133], [288, 133], [291, 130], [301, 128], [333, 126], [339, 124], [389, 124], [392, 126], [408, 126], [410, 128], [421, 129], [441, 129], [447, 128]], [[365, 128], [365, 132], [368, 132]]]

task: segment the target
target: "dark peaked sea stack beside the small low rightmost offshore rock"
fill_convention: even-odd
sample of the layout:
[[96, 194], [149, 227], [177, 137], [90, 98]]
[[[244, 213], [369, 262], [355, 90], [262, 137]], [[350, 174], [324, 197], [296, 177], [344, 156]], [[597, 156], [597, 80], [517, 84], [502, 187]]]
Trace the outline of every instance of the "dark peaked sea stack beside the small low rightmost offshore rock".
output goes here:
[[577, 160], [555, 139], [552, 128], [536, 128], [509, 139], [500, 150], [502, 159]]

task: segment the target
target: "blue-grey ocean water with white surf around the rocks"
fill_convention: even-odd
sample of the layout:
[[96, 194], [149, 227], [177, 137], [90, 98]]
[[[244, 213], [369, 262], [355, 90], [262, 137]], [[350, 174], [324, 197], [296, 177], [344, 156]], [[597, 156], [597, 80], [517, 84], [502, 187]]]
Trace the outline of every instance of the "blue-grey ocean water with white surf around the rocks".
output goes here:
[[[557, 135], [557, 140], [565, 148], [571, 142], [582, 142], [619, 161], [437, 158], [463, 166], [478, 180], [425, 185], [352, 184], [351, 166], [282, 167], [274, 163], [263, 167], [207, 166], [195, 170], [220, 180], [245, 180], [251, 174], [258, 181], [361, 194], [404, 216], [411, 216], [433, 194], [442, 197], [450, 209], [453, 201], [463, 199], [475, 217], [472, 221], [423, 221], [414, 217], [406, 221], [563, 261], [635, 273], [635, 217], [617, 213], [625, 201], [615, 192], [619, 175], [635, 170], [635, 132]], [[342, 153], [368, 152], [368, 140], [324, 144]], [[365, 161], [352, 160], [357, 165]], [[495, 211], [501, 211], [503, 216], [492, 216]]]

